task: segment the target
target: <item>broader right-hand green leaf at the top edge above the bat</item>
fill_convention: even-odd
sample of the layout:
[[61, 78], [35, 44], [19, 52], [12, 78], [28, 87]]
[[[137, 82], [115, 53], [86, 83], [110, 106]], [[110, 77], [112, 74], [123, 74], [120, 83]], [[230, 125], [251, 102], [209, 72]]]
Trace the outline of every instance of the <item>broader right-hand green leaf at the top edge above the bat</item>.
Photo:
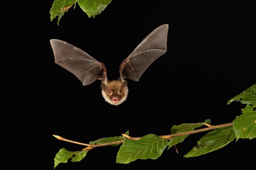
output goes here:
[[111, 3], [112, 0], [77, 0], [80, 8], [88, 15], [93, 18], [100, 14], [104, 9]]

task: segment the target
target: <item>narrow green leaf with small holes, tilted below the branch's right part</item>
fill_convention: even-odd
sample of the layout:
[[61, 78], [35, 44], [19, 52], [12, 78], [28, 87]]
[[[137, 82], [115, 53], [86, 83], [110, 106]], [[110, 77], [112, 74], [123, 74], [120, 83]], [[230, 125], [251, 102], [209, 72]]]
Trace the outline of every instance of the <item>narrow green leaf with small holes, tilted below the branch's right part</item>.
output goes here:
[[236, 136], [233, 131], [233, 127], [222, 127], [216, 130], [212, 130], [203, 136], [198, 145], [193, 147], [184, 157], [200, 156], [214, 150], [218, 150], [226, 146], [229, 142], [233, 141]]

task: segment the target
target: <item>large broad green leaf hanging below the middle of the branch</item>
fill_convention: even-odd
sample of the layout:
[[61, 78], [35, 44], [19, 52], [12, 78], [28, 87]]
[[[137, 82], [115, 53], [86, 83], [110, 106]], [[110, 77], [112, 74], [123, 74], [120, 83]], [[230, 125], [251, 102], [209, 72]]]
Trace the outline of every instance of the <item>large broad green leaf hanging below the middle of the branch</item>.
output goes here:
[[166, 139], [154, 134], [143, 136], [137, 141], [126, 139], [117, 153], [116, 163], [128, 164], [137, 159], [157, 159], [167, 144]]

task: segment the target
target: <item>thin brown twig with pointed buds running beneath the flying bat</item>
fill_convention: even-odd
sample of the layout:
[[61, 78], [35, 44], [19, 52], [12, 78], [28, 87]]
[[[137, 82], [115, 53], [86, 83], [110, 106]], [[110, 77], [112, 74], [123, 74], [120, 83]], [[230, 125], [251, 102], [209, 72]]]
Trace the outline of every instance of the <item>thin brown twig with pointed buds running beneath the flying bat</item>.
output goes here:
[[[212, 126], [212, 125], [209, 125], [209, 124], [205, 124], [205, 125], [208, 126], [208, 127], [198, 129], [198, 130], [191, 130], [191, 131], [188, 131], [188, 132], [175, 133], [175, 134], [172, 134], [172, 135], [163, 135], [163, 136], [160, 136], [160, 137], [162, 137], [163, 139], [171, 139], [171, 138], [177, 137], [177, 136], [184, 136], [184, 135], [189, 135], [189, 134], [193, 134], [193, 133], [200, 133], [200, 132], [205, 132], [205, 131], [208, 131], [208, 130], [214, 130], [214, 129], [218, 129], [218, 128], [221, 128], [221, 127], [233, 126], [233, 122], [222, 124], [222, 125], [215, 125], [215, 126]], [[122, 135], [125, 136], [127, 139], [130, 139], [130, 140], [139, 140], [141, 138], [141, 137], [131, 137], [131, 136], [125, 135], [125, 134], [122, 134]], [[81, 143], [81, 142], [71, 141], [71, 140], [65, 139], [61, 136], [58, 136], [58, 135], [52, 135], [52, 136], [54, 136], [55, 138], [57, 138], [59, 140], [62, 140], [62, 141], [87, 146], [82, 150], [91, 150], [94, 147], [108, 146], [108, 145], [113, 145], [113, 144], [121, 144], [122, 142], [125, 141], [125, 139], [124, 139], [124, 140], [120, 140], [120, 141], [116, 141], [116, 142], [108, 142], [108, 143], [103, 143], [103, 144], [85, 144], [85, 143]]]

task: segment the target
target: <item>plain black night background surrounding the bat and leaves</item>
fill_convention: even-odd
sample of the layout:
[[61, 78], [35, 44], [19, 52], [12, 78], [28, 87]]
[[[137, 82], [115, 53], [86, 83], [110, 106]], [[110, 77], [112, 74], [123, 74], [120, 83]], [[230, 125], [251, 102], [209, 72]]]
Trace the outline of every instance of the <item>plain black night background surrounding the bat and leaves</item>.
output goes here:
[[[4, 15], [2, 77], [3, 166], [5, 169], [52, 170], [55, 154], [84, 146], [60, 141], [52, 134], [89, 143], [120, 136], [167, 135], [173, 125], [232, 122], [245, 107], [227, 101], [255, 84], [255, 6], [230, 3], [167, 3], [113, 0], [95, 18], [78, 4], [57, 26], [50, 21], [49, 2], [23, 1]], [[151, 31], [169, 24], [168, 48], [145, 71], [140, 82], [128, 81], [128, 99], [109, 105], [100, 81], [82, 86], [73, 74], [55, 64], [50, 39], [67, 41], [119, 77], [118, 66]], [[4, 36], [4, 35], [3, 35]], [[7, 55], [6, 55], [7, 54]], [[4, 124], [6, 123], [6, 124]], [[239, 139], [199, 157], [183, 156], [206, 133], [190, 135], [156, 160], [116, 164], [120, 146], [90, 150], [80, 162], [60, 163], [56, 170], [234, 168], [253, 167], [255, 139]]]

